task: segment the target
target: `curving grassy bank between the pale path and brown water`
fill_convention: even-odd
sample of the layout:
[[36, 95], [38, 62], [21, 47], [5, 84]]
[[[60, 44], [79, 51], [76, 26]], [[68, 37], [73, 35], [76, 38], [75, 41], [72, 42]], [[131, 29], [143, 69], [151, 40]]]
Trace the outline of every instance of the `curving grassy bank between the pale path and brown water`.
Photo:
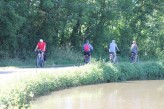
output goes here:
[[12, 80], [12, 84], [1, 87], [0, 104], [1, 107], [6, 108], [30, 108], [30, 101], [35, 98], [69, 87], [163, 78], [164, 62], [138, 64], [96, 62], [72, 69], [57, 70], [53, 73], [43, 72]]

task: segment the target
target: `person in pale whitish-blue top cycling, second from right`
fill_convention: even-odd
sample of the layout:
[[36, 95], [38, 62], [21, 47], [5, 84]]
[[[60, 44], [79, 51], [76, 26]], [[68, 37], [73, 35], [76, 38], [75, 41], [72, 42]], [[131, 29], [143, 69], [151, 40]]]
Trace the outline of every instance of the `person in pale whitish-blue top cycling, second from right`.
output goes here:
[[117, 44], [115, 43], [115, 40], [112, 40], [112, 42], [109, 44], [109, 57], [110, 57], [110, 54], [113, 55], [114, 63], [116, 62], [116, 56], [117, 56], [116, 50], [119, 51]]

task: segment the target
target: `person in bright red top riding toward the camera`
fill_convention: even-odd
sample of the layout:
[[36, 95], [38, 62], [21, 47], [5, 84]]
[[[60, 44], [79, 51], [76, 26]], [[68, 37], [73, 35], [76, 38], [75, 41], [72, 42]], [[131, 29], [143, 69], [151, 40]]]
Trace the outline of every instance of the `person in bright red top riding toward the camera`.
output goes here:
[[42, 52], [42, 57], [43, 60], [45, 61], [45, 51], [46, 51], [46, 43], [43, 41], [43, 39], [40, 39], [39, 42], [37, 43], [37, 46], [35, 48], [36, 50], [40, 50]]

